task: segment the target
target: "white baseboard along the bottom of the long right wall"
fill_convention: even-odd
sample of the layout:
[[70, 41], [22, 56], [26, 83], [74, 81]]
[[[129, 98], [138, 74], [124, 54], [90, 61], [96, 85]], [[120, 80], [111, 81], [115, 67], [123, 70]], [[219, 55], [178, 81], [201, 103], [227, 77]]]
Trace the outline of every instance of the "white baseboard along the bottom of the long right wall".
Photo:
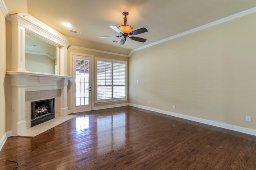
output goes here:
[[224, 129], [229, 129], [229, 130], [232, 130], [232, 131], [238, 131], [238, 132], [242, 132], [242, 133], [246, 133], [246, 134], [256, 136], [256, 130], [255, 129], [249, 129], [249, 128], [240, 127], [240, 126], [236, 126], [236, 125], [230, 125], [230, 124], [222, 123], [222, 122], [218, 122], [218, 121], [202, 119], [202, 118], [199, 118], [199, 117], [182, 115], [182, 114], [174, 113], [174, 112], [171, 112], [171, 111], [165, 111], [165, 110], [161, 110], [161, 109], [155, 109], [155, 108], [152, 108], [152, 107], [141, 106], [141, 105], [136, 105], [136, 104], [131, 104], [131, 103], [129, 103], [129, 106], [134, 106], [134, 107], [138, 107], [138, 108], [141, 108], [141, 109], [155, 111], [155, 112], [158, 112], [158, 113], [163, 113], [163, 114], [174, 116], [174, 117], [180, 117], [182, 119], [188, 119], [188, 120], [191, 120], [191, 121], [196, 121], [196, 122], [204, 123], [204, 124], [207, 124], [207, 125], [221, 127], [221, 128], [224, 128]]

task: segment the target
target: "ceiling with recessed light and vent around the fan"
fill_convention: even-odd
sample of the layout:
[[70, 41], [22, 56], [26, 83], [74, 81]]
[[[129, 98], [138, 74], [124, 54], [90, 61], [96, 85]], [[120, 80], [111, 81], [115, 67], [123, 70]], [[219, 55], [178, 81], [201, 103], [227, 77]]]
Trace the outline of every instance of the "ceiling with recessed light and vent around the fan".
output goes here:
[[[136, 49], [256, 7], [256, 0], [27, 0], [28, 13], [63, 35], [124, 49]], [[145, 27], [148, 32], [135, 35], [145, 43], [127, 39], [124, 45], [108, 25], [124, 24], [122, 12], [129, 12], [127, 25]], [[64, 23], [74, 24], [72, 28]], [[68, 32], [73, 29], [78, 35]]]

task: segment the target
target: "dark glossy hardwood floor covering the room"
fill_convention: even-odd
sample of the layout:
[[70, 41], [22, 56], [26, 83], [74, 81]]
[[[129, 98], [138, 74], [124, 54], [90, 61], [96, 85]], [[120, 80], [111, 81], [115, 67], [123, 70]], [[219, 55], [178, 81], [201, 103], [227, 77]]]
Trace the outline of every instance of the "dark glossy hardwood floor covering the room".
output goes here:
[[125, 106], [79, 113], [34, 138], [10, 137], [0, 169], [256, 170], [256, 137]]

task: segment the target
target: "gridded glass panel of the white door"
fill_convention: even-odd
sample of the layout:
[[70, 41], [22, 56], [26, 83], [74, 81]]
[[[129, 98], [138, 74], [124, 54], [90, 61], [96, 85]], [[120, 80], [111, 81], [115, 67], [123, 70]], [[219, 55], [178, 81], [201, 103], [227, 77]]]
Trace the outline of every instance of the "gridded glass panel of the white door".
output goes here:
[[76, 59], [76, 106], [89, 105], [89, 61]]

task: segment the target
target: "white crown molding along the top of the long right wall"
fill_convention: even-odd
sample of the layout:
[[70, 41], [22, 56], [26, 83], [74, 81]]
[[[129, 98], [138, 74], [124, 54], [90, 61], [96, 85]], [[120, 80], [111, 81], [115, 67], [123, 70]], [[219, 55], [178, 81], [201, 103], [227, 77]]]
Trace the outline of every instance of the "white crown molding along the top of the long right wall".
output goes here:
[[196, 27], [196, 28], [190, 29], [190, 30], [185, 31], [185, 32], [183, 32], [183, 33], [179, 33], [179, 34], [173, 35], [173, 36], [171, 36], [171, 37], [162, 39], [162, 40], [160, 40], [160, 41], [156, 41], [156, 42], [154, 42], [154, 43], [151, 43], [151, 44], [148, 44], [148, 45], [139, 47], [139, 48], [137, 48], [137, 49], [133, 49], [133, 50], [129, 53], [128, 56], [130, 57], [134, 51], [139, 51], [139, 50], [141, 50], [141, 49], [145, 49], [145, 48], [148, 48], [148, 47], [151, 47], [151, 46], [160, 44], [160, 43], [164, 43], [165, 41], [169, 41], [169, 40], [172, 40], [172, 39], [175, 39], [175, 38], [178, 38], [178, 37], [182, 37], [182, 36], [184, 36], [184, 35], [188, 35], [188, 34], [190, 34], [190, 33], [194, 33], [194, 32], [196, 32], [196, 31], [200, 31], [200, 30], [202, 30], [202, 29], [206, 29], [206, 28], [212, 27], [212, 26], [214, 26], [214, 25], [218, 25], [218, 24], [220, 24], [220, 23], [224, 23], [224, 22], [227, 22], [227, 21], [230, 21], [230, 20], [234, 20], [234, 19], [236, 19], [236, 18], [239, 18], [239, 17], [242, 17], [242, 16], [246, 16], [246, 15], [252, 14], [252, 13], [254, 13], [254, 12], [256, 12], [256, 7], [251, 8], [251, 9], [249, 9], [249, 10], [245, 10], [245, 11], [239, 12], [239, 13], [234, 14], [234, 15], [232, 15], [232, 16], [228, 16], [228, 17], [226, 17], [226, 18], [222, 18], [222, 19], [217, 20], [217, 21], [213, 21], [213, 22], [207, 23], [207, 24], [202, 25], [202, 26], [200, 26], [200, 27]]

